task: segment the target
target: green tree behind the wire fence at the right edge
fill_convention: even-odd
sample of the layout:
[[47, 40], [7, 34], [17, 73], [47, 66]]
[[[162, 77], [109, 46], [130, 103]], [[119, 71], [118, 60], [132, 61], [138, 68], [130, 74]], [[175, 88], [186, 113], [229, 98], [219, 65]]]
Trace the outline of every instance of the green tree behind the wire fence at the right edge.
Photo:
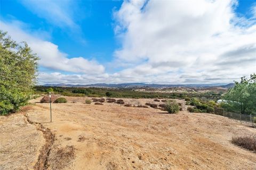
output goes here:
[[230, 88], [223, 99], [226, 99], [226, 107], [239, 111], [242, 114], [256, 114], [256, 74], [251, 74], [250, 79], [241, 78], [241, 82], [235, 81], [235, 87]]

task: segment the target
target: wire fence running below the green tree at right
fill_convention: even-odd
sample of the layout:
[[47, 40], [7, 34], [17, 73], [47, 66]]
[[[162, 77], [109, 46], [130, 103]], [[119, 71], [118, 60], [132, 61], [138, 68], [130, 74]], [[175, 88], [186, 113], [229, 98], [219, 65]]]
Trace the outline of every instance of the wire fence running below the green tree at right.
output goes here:
[[238, 120], [241, 123], [251, 123], [252, 126], [256, 126], [256, 115], [247, 115], [247, 114], [241, 114], [241, 113], [234, 113], [234, 112], [227, 112], [223, 108], [214, 108], [214, 114], [221, 115], [225, 117], [232, 118], [234, 120]]

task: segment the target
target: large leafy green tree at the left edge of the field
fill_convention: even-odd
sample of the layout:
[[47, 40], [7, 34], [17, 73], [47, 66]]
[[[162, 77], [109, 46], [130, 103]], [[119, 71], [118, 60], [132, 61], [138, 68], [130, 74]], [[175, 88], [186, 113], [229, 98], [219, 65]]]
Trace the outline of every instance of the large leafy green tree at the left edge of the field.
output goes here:
[[37, 60], [26, 42], [18, 44], [0, 30], [0, 115], [18, 111], [31, 98]]

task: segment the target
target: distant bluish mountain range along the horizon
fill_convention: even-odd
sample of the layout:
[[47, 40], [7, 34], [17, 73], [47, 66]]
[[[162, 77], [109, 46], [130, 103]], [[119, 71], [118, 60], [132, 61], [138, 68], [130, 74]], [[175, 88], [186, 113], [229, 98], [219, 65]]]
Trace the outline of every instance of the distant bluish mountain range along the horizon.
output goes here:
[[96, 83], [96, 84], [44, 84], [43, 86], [48, 87], [98, 87], [98, 88], [170, 88], [170, 87], [196, 87], [196, 88], [207, 88], [207, 87], [222, 87], [231, 88], [234, 87], [234, 83], [215, 83], [215, 84], [147, 84], [147, 83], [118, 83], [118, 84], [106, 84], [106, 83]]

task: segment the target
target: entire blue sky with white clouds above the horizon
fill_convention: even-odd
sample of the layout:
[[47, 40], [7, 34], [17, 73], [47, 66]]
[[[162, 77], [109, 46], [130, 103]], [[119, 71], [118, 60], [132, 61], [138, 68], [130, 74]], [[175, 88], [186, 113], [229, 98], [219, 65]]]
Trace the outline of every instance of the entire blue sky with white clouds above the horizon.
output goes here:
[[0, 1], [38, 84], [231, 83], [256, 73], [256, 1]]

